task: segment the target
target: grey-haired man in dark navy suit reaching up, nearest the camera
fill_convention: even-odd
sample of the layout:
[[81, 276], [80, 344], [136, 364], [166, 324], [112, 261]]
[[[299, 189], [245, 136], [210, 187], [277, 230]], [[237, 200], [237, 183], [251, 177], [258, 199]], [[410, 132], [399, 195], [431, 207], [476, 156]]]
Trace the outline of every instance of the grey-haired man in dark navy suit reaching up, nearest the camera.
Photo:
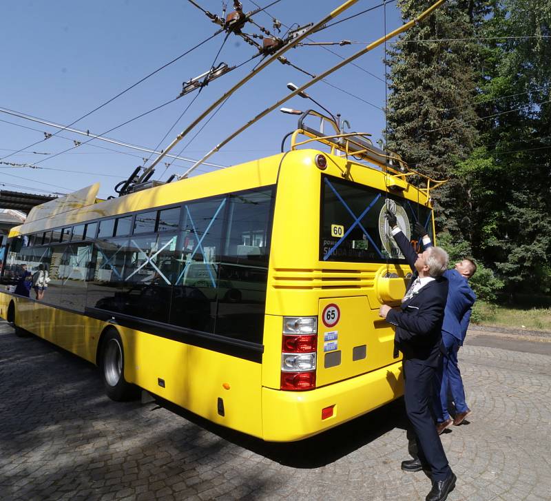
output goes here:
[[418, 275], [399, 309], [382, 305], [379, 311], [382, 318], [396, 326], [395, 343], [404, 355], [404, 402], [419, 454], [418, 458], [402, 462], [402, 469], [430, 469], [433, 487], [426, 501], [444, 501], [457, 478], [448, 464], [430, 405], [441, 364], [441, 327], [448, 296], [448, 280], [442, 274], [448, 267], [448, 254], [440, 247], [429, 247], [416, 254], [399, 229], [396, 216], [387, 212], [386, 218], [399, 249]]

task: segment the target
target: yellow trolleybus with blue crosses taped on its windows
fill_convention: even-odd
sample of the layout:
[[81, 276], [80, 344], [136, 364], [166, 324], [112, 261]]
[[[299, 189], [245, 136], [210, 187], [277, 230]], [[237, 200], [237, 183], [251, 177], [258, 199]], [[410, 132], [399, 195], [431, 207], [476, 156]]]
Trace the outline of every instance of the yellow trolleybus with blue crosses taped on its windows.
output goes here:
[[383, 214], [432, 234], [432, 181], [410, 184], [417, 174], [366, 135], [307, 127], [313, 114], [282, 154], [35, 207], [12, 229], [3, 278], [26, 265], [50, 282], [41, 300], [4, 285], [0, 315], [97, 364], [114, 400], [145, 389], [263, 440], [398, 398], [394, 331], [377, 312], [399, 304], [410, 270]]

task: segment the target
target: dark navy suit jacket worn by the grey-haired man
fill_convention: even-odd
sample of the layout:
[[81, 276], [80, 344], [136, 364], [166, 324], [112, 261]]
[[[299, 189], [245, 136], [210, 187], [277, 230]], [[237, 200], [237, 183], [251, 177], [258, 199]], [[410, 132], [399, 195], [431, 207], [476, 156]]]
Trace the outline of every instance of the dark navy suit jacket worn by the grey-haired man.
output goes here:
[[[402, 232], [394, 238], [408, 264], [415, 270], [413, 265], [417, 254], [408, 239]], [[396, 326], [394, 340], [405, 360], [437, 367], [441, 356], [441, 327], [447, 296], [448, 280], [441, 276], [402, 303], [399, 310], [388, 311], [386, 321]]]

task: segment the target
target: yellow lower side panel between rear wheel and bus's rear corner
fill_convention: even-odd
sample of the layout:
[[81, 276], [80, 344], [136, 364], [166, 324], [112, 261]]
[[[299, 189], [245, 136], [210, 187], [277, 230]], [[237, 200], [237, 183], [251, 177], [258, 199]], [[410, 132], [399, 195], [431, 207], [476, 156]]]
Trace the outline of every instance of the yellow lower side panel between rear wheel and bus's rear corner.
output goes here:
[[[219, 425], [262, 438], [260, 364], [125, 327], [117, 329], [127, 360], [125, 380]], [[218, 398], [223, 400], [224, 416], [218, 413]]]

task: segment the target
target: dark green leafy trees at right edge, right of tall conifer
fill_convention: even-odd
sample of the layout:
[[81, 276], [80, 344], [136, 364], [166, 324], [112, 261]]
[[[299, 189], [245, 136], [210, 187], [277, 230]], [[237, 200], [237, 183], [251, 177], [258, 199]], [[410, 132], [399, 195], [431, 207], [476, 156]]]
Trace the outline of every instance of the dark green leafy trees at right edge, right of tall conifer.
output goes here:
[[551, 3], [504, 0], [481, 25], [483, 146], [455, 165], [472, 199], [470, 238], [508, 295], [548, 292], [551, 254]]

